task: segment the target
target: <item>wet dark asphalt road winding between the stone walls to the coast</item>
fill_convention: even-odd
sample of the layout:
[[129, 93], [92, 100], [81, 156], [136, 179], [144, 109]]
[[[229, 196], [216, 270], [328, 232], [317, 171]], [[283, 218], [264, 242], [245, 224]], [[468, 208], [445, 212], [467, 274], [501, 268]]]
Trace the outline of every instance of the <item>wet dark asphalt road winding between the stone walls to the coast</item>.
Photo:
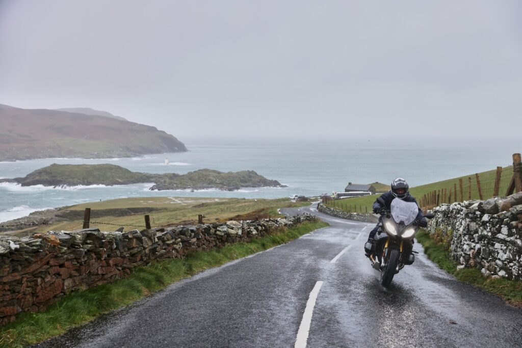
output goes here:
[[317, 281], [309, 347], [522, 345], [522, 310], [455, 280], [418, 244], [415, 263], [383, 289], [363, 254], [373, 225], [314, 207], [299, 212], [329, 227], [177, 282], [38, 346], [291, 347]]

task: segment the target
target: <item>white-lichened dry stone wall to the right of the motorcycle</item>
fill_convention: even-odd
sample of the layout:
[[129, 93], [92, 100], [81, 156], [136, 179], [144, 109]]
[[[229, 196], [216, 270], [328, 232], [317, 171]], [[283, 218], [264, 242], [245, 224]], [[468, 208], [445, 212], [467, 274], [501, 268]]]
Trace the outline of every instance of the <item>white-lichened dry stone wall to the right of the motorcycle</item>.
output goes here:
[[485, 276], [522, 280], [522, 205], [500, 211], [502, 199], [470, 200], [433, 209], [430, 233], [450, 241], [450, 258]]

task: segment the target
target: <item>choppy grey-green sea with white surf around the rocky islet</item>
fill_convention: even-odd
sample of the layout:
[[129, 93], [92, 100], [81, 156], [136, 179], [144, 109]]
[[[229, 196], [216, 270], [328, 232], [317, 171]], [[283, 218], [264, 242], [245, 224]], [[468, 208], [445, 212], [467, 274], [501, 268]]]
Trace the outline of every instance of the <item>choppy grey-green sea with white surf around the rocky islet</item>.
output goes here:
[[[236, 140], [182, 139], [188, 152], [151, 154], [116, 159], [44, 159], [0, 162], [0, 222], [23, 217], [35, 210], [77, 203], [140, 196], [278, 198], [293, 194], [313, 196], [343, 191], [348, 182], [390, 183], [404, 177], [410, 186], [511, 164], [520, 152], [518, 142], [500, 140], [395, 141], [395, 140]], [[518, 145], [518, 147], [517, 147]], [[169, 165], [165, 165], [165, 158]], [[254, 170], [276, 179], [286, 188], [244, 188], [238, 191], [150, 191], [152, 184], [122, 186], [41, 185], [21, 187], [1, 178], [25, 176], [52, 163], [112, 163], [131, 171], [180, 173], [209, 168], [223, 172]]]

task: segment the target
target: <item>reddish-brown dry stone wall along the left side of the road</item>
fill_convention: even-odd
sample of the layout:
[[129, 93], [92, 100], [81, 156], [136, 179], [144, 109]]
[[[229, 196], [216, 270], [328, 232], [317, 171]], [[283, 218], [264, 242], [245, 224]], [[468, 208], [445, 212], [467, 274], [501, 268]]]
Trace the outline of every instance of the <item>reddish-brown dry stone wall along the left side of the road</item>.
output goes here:
[[44, 310], [73, 290], [123, 278], [152, 260], [183, 258], [191, 250], [246, 242], [316, 220], [296, 215], [123, 233], [84, 229], [31, 238], [0, 236], [0, 325], [22, 311]]

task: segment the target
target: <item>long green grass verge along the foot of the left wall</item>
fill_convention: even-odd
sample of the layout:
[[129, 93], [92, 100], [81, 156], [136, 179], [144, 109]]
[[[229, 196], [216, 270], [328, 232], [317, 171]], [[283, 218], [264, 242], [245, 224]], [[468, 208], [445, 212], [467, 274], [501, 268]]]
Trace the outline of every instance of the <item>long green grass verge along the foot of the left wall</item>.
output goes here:
[[185, 259], [169, 259], [138, 267], [125, 279], [64, 296], [42, 313], [23, 313], [17, 320], [0, 328], [0, 347], [25, 347], [60, 335], [100, 314], [131, 304], [180, 279], [207, 268], [217, 267], [259, 251], [287, 243], [303, 234], [327, 226], [308, 222], [290, 229], [235, 243], [210, 251], [198, 251]]

